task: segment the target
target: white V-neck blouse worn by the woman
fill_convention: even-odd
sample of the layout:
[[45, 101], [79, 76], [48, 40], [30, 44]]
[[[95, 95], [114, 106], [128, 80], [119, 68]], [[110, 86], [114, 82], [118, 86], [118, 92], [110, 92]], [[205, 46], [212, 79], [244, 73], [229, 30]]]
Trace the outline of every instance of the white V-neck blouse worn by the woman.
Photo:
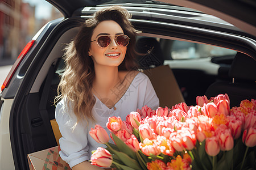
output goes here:
[[[113, 92], [118, 93], [118, 88]], [[150, 79], [144, 73], [138, 73], [135, 76], [125, 94], [115, 104], [115, 110], [114, 108], [106, 107], [96, 96], [95, 98], [96, 103], [92, 109], [92, 114], [96, 124], [101, 125], [108, 134], [110, 134], [110, 131], [106, 128], [106, 123], [110, 116], [119, 116], [122, 120], [125, 120], [127, 114], [136, 111], [137, 108], [141, 109], [144, 105], [151, 109], [159, 107], [159, 99], [156, 96]], [[59, 140], [60, 156], [70, 167], [90, 160], [91, 151], [97, 150], [97, 147], [106, 147], [90, 137], [89, 131], [91, 128], [94, 128], [92, 122], [89, 122], [87, 127], [85, 127], [86, 122], [76, 125], [77, 118], [73, 114], [72, 104], [69, 104], [68, 107], [64, 99], [56, 106], [55, 118], [59, 125], [60, 133], [63, 136]], [[75, 125], [76, 128], [74, 129]]]

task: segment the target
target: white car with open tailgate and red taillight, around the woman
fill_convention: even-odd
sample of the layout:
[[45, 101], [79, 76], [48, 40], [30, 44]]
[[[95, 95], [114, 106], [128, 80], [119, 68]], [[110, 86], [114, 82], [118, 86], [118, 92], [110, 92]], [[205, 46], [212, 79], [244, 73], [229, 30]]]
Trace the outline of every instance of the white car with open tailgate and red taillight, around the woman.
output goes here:
[[[57, 145], [50, 120], [64, 70], [63, 48], [80, 22], [102, 7], [121, 5], [133, 15], [131, 22], [142, 31], [137, 36], [138, 69], [150, 77], [161, 107], [195, 105], [196, 96], [225, 93], [231, 107], [256, 99], [252, 1], [221, 1], [223, 6], [219, 1], [47, 1], [64, 18], [36, 33], [2, 85], [0, 169], [29, 169], [27, 154]], [[241, 10], [233, 14], [229, 7]]]

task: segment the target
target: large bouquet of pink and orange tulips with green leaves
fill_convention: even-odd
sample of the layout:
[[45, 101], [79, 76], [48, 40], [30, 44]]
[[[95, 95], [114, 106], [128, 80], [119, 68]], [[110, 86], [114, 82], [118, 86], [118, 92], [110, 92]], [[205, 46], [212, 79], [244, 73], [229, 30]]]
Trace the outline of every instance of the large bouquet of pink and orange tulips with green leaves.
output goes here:
[[109, 117], [109, 135], [99, 125], [89, 134], [106, 148], [91, 164], [117, 169], [255, 169], [256, 100], [230, 109], [228, 95], [197, 96], [156, 111], [144, 106], [126, 120]]

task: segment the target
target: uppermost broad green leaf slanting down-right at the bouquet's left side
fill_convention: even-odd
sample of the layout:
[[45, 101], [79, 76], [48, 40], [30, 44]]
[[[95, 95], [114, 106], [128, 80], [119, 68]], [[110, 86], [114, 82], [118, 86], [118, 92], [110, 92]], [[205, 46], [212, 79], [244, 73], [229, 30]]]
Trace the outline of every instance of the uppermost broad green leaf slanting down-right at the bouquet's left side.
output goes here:
[[115, 144], [117, 145], [119, 151], [126, 153], [128, 156], [130, 156], [133, 159], [136, 159], [136, 154], [129, 146], [125, 144], [121, 139], [119, 139], [114, 133], [112, 133], [112, 137], [115, 141]]

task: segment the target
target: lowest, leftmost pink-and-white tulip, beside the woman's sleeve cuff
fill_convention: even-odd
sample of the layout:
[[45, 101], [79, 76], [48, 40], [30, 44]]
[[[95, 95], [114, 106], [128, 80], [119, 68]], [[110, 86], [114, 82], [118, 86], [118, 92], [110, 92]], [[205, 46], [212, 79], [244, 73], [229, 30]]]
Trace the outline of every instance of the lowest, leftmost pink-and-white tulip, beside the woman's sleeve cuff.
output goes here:
[[92, 161], [90, 164], [97, 165], [98, 167], [110, 167], [113, 162], [112, 155], [108, 150], [102, 147], [98, 147], [97, 150], [93, 152], [90, 160]]

